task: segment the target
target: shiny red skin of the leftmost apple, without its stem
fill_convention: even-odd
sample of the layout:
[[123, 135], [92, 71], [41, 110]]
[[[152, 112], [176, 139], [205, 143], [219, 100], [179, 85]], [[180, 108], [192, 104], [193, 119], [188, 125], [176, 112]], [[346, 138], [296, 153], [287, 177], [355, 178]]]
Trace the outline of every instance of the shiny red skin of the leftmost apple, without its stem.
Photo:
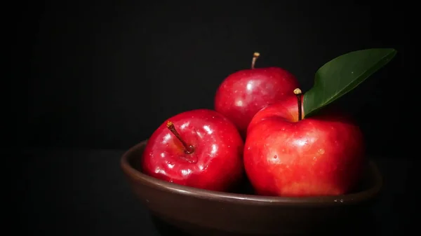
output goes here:
[[[173, 122], [185, 148], [166, 127]], [[243, 177], [243, 139], [235, 125], [208, 109], [185, 111], [160, 125], [148, 139], [142, 171], [149, 176], [183, 186], [229, 191]]]

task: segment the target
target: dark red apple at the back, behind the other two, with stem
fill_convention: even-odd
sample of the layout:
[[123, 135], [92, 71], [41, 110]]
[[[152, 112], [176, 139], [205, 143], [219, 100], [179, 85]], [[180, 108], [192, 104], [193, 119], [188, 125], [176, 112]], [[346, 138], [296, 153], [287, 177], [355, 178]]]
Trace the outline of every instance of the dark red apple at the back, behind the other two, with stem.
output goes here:
[[255, 68], [258, 56], [255, 53], [251, 69], [227, 76], [215, 95], [215, 110], [232, 120], [243, 136], [255, 113], [298, 88], [297, 78], [286, 69]]

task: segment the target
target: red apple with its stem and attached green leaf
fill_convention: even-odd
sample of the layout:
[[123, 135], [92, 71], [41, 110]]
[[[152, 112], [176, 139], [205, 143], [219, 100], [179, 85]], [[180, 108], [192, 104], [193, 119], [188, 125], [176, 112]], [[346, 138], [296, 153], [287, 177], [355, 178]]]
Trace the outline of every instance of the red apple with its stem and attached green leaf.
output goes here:
[[[312, 197], [352, 192], [366, 163], [359, 126], [338, 107], [328, 106], [385, 66], [394, 49], [358, 50], [336, 57], [316, 71], [304, 95], [269, 104], [250, 121], [244, 167], [258, 195]], [[295, 93], [295, 95], [294, 95]]]

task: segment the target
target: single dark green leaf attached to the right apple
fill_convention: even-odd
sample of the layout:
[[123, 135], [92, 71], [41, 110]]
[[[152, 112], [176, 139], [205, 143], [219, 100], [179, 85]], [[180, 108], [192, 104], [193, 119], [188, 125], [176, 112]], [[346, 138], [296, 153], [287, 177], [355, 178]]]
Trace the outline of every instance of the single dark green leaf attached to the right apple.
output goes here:
[[313, 87], [304, 95], [305, 117], [356, 88], [396, 55], [393, 48], [371, 48], [341, 55], [316, 71]]

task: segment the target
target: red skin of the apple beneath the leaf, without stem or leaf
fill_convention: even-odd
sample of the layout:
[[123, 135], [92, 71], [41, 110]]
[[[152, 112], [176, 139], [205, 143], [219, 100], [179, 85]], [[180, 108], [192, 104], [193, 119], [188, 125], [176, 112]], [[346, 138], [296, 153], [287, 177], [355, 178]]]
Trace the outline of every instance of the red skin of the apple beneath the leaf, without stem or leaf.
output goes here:
[[313, 197], [352, 191], [364, 152], [363, 134], [350, 116], [330, 108], [298, 121], [292, 96], [256, 114], [243, 158], [258, 195]]

